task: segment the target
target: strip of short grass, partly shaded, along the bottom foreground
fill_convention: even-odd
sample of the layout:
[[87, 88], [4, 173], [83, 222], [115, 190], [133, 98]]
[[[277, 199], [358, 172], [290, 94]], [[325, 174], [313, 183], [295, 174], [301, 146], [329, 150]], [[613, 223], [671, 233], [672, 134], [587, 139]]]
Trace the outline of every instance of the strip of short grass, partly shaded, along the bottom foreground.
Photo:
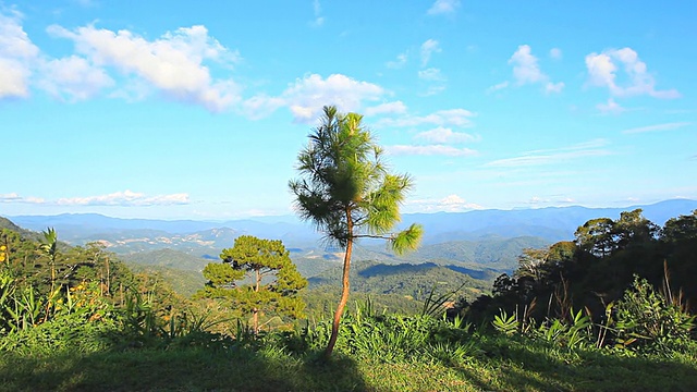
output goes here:
[[558, 350], [516, 336], [472, 336], [468, 353], [384, 360], [278, 346], [0, 353], [2, 391], [695, 391], [697, 353], [671, 358]]

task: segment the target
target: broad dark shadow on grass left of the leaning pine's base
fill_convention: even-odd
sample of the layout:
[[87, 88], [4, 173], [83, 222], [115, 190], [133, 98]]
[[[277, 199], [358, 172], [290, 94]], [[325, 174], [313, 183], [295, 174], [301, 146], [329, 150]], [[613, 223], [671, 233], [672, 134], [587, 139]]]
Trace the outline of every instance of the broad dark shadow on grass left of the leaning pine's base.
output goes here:
[[246, 350], [0, 353], [1, 391], [365, 391], [353, 359]]

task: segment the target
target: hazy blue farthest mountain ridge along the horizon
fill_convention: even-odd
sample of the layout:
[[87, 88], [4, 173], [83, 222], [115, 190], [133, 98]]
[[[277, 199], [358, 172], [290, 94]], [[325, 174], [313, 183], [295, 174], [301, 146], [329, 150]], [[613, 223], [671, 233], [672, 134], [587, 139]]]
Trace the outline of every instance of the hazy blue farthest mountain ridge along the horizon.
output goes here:
[[[652, 205], [637, 205], [624, 208], [587, 208], [579, 206], [547, 207], [538, 209], [514, 210], [474, 210], [467, 212], [405, 213], [402, 226], [413, 222], [424, 225], [424, 244], [438, 244], [451, 241], [480, 241], [487, 237], [512, 238], [536, 236], [548, 242], [573, 240], [576, 229], [595, 218], [617, 219], [622, 211], [636, 208], [656, 224], [662, 225], [668, 219], [689, 215], [697, 209], [697, 200], [672, 199]], [[293, 217], [260, 217], [224, 222], [195, 220], [155, 220], [121, 219], [97, 213], [64, 213], [59, 216], [16, 216], [8, 217], [15, 224], [34, 231], [54, 228], [62, 240], [78, 240], [98, 236], [134, 235], [134, 231], [158, 231], [162, 235], [199, 234], [201, 237], [215, 236], [215, 229], [232, 229], [236, 235], [250, 234], [267, 238], [282, 240], [289, 247], [317, 246], [321, 235], [310, 223], [301, 222]], [[143, 233], [143, 232], [142, 232]], [[167, 233], [167, 234], [166, 234]], [[151, 233], [148, 237], [157, 236]], [[215, 238], [213, 238], [215, 240]]]

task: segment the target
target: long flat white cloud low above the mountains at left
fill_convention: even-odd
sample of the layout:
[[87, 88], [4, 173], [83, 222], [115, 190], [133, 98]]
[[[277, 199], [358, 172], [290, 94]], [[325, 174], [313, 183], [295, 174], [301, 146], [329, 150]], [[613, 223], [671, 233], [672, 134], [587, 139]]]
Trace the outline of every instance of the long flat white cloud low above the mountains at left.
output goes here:
[[172, 206], [189, 204], [187, 194], [147, 196], [132, 191], [115, 192], [108, 195], [61, 198], [56, 201], [61, 206]]

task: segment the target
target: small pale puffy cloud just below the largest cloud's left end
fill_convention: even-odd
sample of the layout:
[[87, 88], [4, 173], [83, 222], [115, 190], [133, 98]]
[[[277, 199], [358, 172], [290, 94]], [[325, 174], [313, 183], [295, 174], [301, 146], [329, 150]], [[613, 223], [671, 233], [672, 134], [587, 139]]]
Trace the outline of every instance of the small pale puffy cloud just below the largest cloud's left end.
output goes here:
[[46, 61], [41, 69], [39, 86], [60, 99], [88, 99], [114, 84], [105, 70], [76, 56]]

